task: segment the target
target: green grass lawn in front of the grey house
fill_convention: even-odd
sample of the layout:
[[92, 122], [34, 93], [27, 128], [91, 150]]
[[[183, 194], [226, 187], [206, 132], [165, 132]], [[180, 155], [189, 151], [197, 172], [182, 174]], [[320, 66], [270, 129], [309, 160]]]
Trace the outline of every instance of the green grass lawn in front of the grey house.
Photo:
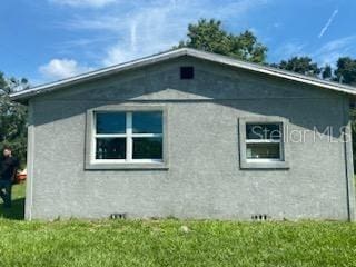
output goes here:
[[[14, 189], [22, 199], [23, 186]], [[356, 266], [355, 224], [174, 219], [28, 222], [17, 220], [20, 211], [1, 214], [7, 217], [0, 219], [1, 267]]]

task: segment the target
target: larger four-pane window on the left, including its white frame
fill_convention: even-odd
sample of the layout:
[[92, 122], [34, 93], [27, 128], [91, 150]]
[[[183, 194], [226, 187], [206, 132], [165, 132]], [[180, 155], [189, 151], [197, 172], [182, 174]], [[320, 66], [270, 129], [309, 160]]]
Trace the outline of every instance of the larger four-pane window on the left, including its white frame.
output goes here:
[[88, 169], [165, 167], [164, 110], [90, 110], [88, 126]]

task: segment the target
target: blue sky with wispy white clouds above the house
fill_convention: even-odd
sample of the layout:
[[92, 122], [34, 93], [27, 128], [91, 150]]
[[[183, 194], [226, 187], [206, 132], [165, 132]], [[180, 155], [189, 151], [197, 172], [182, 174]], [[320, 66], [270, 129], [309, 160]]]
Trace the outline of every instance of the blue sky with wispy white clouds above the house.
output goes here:
[[32, 85], [164, 51], [189, 22], [216, 18], [251, 30], [268, 61], [356, 58], [355, 0], [2, 0], [0, 70]]

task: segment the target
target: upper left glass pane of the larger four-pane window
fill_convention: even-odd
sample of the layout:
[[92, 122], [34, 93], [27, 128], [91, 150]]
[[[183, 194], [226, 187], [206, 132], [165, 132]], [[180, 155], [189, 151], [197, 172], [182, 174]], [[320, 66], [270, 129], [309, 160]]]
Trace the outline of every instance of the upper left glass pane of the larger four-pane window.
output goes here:
[[98, 112], [97, 134], [125, 134], [126, 113], [125, 112]]

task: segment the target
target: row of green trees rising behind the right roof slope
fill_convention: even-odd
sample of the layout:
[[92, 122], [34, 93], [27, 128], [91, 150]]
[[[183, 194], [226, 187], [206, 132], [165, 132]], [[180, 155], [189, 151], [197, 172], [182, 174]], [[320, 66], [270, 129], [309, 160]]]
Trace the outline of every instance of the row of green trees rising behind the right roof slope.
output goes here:
[[267, 63], [268, 48], [257, 40], [251, 31], [233, 34], [224, 30], [221, 21], [201, 19], [188, 26], [187, 40], [178, 47], [195, 48], [220, 53], [236, 59], [267, 65], [278, 69], [313, 76], [325, 80], [356, 85], [356, 59], [340, 57], [336, 67], [318, 66], [310, 57], [291, 57], [280, 62]]

